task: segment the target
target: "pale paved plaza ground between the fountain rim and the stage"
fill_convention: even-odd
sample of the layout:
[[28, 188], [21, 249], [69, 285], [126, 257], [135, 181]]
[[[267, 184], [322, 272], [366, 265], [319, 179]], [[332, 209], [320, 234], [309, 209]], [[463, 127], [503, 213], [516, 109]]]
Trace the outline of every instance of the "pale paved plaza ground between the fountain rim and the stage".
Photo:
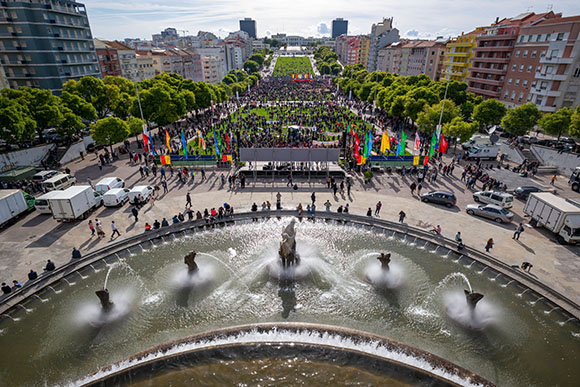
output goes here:
[[[84, 161], [75, 161], [68, 165], [77, 177], [79, 184], [90, 178], [96, 183], [103, 176], [118, 176], [132, 187], [138, 184], [153, 184], [158, 182], [152, 177], [142, 179], [138, 167], [133, 166], [124, 155], [123, 159], [107, 165], [102, 171], [96, 166], [94, 155], [86, 157]], [[464, 212], [465, 205], [472, 203], [472, 192], [465, 189], [465, 185], [458, 178], [438, 178], [437, 182], [429, 183], [429, 188], [452, 189], [458, 197], [458, 208], [447, 209], [442, 206], [425, 204], [416, 196], [411, 196], [408, 189], [410, 179], [399, 175], [378, 175], [370, 185], [362, 185], [362, 179], [355, 177], [350, 197], [339, 195], [334, 197], [332, 192], [322, 182], [298, 182], [298, 191], [286, 188], [286, 181], [280, 179], [272, 182], [258, 182], [244, 190], [229, 191], [220, 182], [220, 174], [227, 176], [229, 171], [220, 171], [215, 168], [207, 170], [205, 181], [201, 181], [198, 172], [194, 183], [180, 184], [176, 178], [169, 179], [169, 192], [164, 194], [154, 205], [147, 204], [140, 210], [139, 222], [134, 222], [131, 209], [128, 205], [122, 208], [100, 208], [90, 217], [93, 221], [98, 218], [103, 222], [107, 238], [99, 240], [91, 237], [87, 221], [60, 224], [50, 215], [31, 213], [16, 224], [0, 232], [0, 272], [1, 281], [18, 279], [24, 282], [26, 273], [31, 269], [38, 272], [46, 259], [52, 259], [57, 265], [70, 260], [73, 247], [80, 248], [84, 253], [99, 249], [109, 243], [111, 234], [110, 224], [114, 220], [121, 231], [121, 238], [144, 231], [145, 222], [152, 224], [156, 219], [163, 217], [168, 220], [183, 211], [185, 208], [185, 194], [190, 192], [193, 208], [203, 211], [205, 208], [218, 207], [224, 202], [234, 206], [236, 212], [249, 211], [252, 203], [260, 205], [264, 201], [276, 202], [276, 193], [282, 194], [284, 208], [295, 208], [298, 203], [304, 207], [310, 202], [310, 195], [316, 192], [317, 211], [324, 211], [323, 203], [330, 200], [332, 211], [339, 205], [349, 203], [350, 212], [364, 215], [368, 208], [373, 213], [375, 204], [380, 200], [383, 208], [381, 218], [397, 220], [398, 213], [404, 210], [407, 213], [406, 221], [416, 227], [430, 229], [441, 225], [443, 235], [453, 238], [457, 231], [461, 231], [463, 240], [471, 247], [483, 250], [488, 238], [493, 238], [495, 246], [490, 254], [510, 265], [519, 265], [523, 261], [531, 262], [534, 267], [532, 276], [553, 287], [558, 292], [568, 296], [576, 303], [580, 303], [580, 259], [579, 247], [561, 246], [554, 240], [553, 235], [543, 229], [526, 227], [520, 241], [512, 240], [515, 224], [498, 225], [492, 221], [475, 218]], [[460, 175], [460, 170], [455, 171]], [[546, 180], [548, 177], [543, 178]], [[563, 196], [576, 195], [567, 187], [564, 177], [557, 183], [557, 189]], [[545, 183], [545, 182], [544, 182]], [[523, 203], [516, 201], [513, 211], [516, 213], [516, 222], [524, 221], [521, 218]]]

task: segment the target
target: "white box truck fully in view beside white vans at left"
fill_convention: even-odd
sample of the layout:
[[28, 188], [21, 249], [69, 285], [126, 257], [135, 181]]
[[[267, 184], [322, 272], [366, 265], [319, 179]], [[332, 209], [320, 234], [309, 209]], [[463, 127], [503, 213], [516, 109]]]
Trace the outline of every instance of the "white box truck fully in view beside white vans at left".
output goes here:
[[67, 222], [86, 219], [99, 203], [91, 186], [77, 185], [49, 198], [48, 205], [54, 219]]

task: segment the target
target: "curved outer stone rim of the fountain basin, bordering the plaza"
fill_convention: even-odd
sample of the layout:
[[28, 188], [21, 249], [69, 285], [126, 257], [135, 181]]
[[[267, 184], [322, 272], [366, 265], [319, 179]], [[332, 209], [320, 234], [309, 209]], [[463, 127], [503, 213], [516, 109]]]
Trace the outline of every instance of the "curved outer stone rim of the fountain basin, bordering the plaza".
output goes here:
[[554, 304], [560, 306], [563, 310], [566, 310], [572, 316], [580, 319], [580, 305], [576, 302], [570, 300], [568, 297], [559, 293], [558, 291], [552, 289], [551, 287], [545, 285], [538, 279], [534, 277], [527, 276], [523, 272], [514, 270], [510, 265], [494, 258], [484, 252], [481, 252], [472, 247], [465, 246], [461, 251], [457, 251], [457, 242], [452, 239], [443, 237], [441, 235], [435, 235], [429, 231], [421, 228], [413, 227], [407, 224], [392, 222], [383, 219], [377, 219], [366, 216], [359, 215], [344, 215], [333, 212], [321, 211], [316, 213], [316, 215], [310, 215], [303, 213], [302, 216], [298, 216], [296, 210], [281, 210], [281, 211], [257, 211], [257, 212], [245, 212], [238, 213], [230, 217], [225, 217], [223, 219], [217, 219], [212, 222], [207, 222], [205, 219], [185, 221], [177, 224], [172, 224], [168, 227], [162, 227], [157, 230], [147, 231], [141, 234], [133, 235], [125, 239], [113, 242], [103, 248], [91, 252], [85, 255], [83, 258], [78, 260], [72, 260], [69, 263], [57, 268], [56, 270], [44, 273], [39, 276], [34, 281], [29, 281], [24, 284], [24, 286], [17, 291], [8, 294], [2, 300], [0, 300], [0, 314], [5, 313], [7, 310], [15, 307], [20, 302], [24, 301], [26, 298], [31, 297], [36, 292], [60, 281], [62, 278], [75, 271], [81, 270], [88, 267], [92, 263], [110, 257], [118, 251], [126, 250], [131, 247], [138, 246], [140, 243], [167, 237], [175, 233], [181, 233], [188, 230], [205, 230], [216, 227], [225, 227], [226, 225], [235, 224], [236, 222], [253, 221], [257, 219], [269, 219], [272, 217], [298, 217], [300, 219], [314, 219], [322, 221], [337, 221], [344, 224], [361, 225], [370, 228], [383, 228], [393, 231], [395, 233], [400, 233], [401, 235], [409, 235], [411, 237], [416, 237], [419, 239], [426, 240], [438, 246], [444, 247], [450, 251], [455, 252], [460, 256], [465, 256], [466, 258], [472, 259], [474, 261], [480, 262], [486, 266], [490, 266], [501, 274], [508, 278], [517, 281], [519, 284], [526, 288], [531, 288], [541, 296], [549, 299]]

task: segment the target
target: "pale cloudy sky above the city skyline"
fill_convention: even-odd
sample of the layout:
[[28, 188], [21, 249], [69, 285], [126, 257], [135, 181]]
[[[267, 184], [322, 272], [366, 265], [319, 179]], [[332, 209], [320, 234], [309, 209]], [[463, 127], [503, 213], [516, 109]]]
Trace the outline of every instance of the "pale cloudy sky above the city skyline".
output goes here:
[[[199, 30], [219, 37], [239, 30], [239, 20], [256, 20], [258, 37], [276, 33], [329, 36], [332, 20], [348, 20], [352, 35], [368, 34], [371, 25], [393, 17], [401, 37], [451, 37], [489, 25], [496, 17], [522, 12], [554, 12], [563, 16], [580, 14], [577, 0], [550, 4], [536, 0], [77, 0], [86, 5], [96, 38], [151, 39], [167, 27], [179, 34], [196, 35]], [[549, 1], [549, 0], [548, 0]], [[404, 6], [402, 6], [404, 4]]]

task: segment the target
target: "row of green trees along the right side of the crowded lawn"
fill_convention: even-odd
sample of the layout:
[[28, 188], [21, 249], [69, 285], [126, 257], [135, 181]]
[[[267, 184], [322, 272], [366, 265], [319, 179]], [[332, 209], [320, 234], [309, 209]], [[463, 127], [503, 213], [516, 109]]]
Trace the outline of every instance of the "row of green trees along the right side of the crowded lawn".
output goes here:
[[403, 77], [385, 72], [369, 73], [362, 65], [347, 65], [342, 77], [335, 78], [346, 95], [373, 102], [393, 117], [402, 117], [421, 132], [430, 134], [439, 123], [442, 101], [447, 87], [447, 100], [441, 116], [443, 132], [469, 139], [479, 129], [501, 124], [514, 135], [524, 135], [539, 125], [544, 132], [556, 136], [570, 133], [580, 136], [580, 111], [562, 108], [542, 115], [535, 104], [528, 103], [507, 109], [495, 99], [483, 101], [467, 92], [467, 84], [435, 82], [426, 75]]

